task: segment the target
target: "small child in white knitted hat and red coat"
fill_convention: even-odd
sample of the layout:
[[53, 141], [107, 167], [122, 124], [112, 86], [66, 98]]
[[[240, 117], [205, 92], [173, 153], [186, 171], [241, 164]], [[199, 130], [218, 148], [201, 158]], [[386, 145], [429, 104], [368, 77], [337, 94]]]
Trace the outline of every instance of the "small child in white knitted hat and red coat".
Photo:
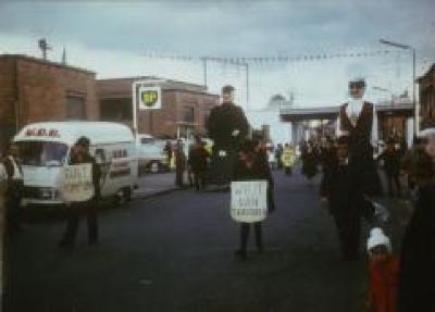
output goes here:
[[393, 257], [391, 242], [380, 227], [370, 232], [369, 252], [369, 298], [368, 310], [395, 312], [399, 262]]

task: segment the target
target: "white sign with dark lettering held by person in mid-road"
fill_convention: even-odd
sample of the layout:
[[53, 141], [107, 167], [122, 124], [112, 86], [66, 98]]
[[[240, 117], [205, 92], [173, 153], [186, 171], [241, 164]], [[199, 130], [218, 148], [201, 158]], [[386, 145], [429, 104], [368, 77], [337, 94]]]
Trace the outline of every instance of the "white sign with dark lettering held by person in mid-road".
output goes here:
[[233, 182], [231, 190], [231, 216], [234, 221], [253, 223], [266, 217], [266, 180]]

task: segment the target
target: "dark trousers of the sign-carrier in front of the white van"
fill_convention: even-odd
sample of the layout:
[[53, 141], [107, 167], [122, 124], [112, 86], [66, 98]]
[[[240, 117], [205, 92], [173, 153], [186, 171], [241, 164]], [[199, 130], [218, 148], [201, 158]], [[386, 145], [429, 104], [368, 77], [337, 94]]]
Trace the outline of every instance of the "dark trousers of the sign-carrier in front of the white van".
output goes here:
[[67, 209], [69, 211], [67, 211], [66, 230], [63, 236], [62, 242], [64, 244], [75, 242], [79, 220], [84, 214], [86, 214], [88, 224], [88, 244], [98, 242], [97, 203], [94, 201], [77, 202], [77, 203], [72, 203], [71, 207]]

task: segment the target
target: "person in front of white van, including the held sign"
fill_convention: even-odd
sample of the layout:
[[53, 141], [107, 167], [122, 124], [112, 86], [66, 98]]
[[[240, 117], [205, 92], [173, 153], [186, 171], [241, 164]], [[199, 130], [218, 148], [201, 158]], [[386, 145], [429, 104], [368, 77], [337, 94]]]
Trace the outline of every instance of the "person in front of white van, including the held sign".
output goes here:
[[[84, 212], [86, 212], [88, 223], [88, 244], [98, 242], [97, 202], [100, 198], [100, 169], [89, 154], [89, 145], [90, 141], [87, 137], [80, 137], [72, 149], [69, 164], [70, 167], [76, 167], [65, 174], [65, 179], [80, 180], [82, 177], [82, 184], [87, 185], [86, 175], [90, 175], [90, 186], [87, 186], [86, 191], [90, 188], [91, 192], [85, 191], [86, 195], [84, 195], [84, 191], [79, 190], [82, 189], [80, 185], [74, 186], [73, 184], [70, 184], [67, 190], [64, 190], [64, 196], [67, 195], [71, 207], [69, 207], [66, 230], [59, 244], [60, 247], [74, 247], [79, 219]], [[87, 170], [90, 172], [86, 173]]]

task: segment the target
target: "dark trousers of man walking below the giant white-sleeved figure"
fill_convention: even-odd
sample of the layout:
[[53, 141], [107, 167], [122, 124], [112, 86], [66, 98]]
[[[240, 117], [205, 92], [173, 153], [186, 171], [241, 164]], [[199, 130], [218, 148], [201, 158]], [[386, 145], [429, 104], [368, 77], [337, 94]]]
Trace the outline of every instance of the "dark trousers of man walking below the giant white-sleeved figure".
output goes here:
[[357, 212], [334, 213], [344, 260], [357, 260], [360, 252], [361, 215]]

